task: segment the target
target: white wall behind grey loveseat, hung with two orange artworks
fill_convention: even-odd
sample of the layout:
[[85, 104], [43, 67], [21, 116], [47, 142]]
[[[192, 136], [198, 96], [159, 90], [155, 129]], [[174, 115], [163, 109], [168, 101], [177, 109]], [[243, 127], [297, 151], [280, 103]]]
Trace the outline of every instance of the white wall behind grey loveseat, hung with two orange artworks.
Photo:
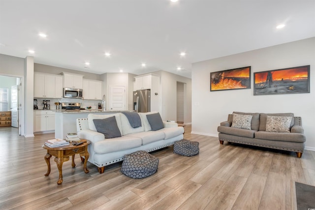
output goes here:
[[[311, 65], [310, 93], [253, 95], [253, 72]], [[252, 66], [252, 89], [210, 91], [210, 72]], [[192, 64], [192, 133], [218, 136], [233, 111], [302, 117], [306, 149], [315, 150], [315, 37]]]

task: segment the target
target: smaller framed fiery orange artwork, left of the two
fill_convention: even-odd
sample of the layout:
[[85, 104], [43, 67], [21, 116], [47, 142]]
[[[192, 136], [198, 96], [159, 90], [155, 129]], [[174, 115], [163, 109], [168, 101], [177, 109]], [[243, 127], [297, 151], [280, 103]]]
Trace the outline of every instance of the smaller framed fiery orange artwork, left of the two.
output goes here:
[[210, 73], [210, 91], [251, 89], [251, 66]]

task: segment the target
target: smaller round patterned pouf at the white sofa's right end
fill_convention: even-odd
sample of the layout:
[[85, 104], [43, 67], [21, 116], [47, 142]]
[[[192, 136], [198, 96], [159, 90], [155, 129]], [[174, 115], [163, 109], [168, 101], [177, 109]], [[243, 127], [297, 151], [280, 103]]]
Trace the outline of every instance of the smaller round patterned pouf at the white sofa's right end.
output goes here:
[[193, 156], [199, 153], [199, 142], [192, 142], [186, 139], [174, 142], [174, 153], [183, 156]]

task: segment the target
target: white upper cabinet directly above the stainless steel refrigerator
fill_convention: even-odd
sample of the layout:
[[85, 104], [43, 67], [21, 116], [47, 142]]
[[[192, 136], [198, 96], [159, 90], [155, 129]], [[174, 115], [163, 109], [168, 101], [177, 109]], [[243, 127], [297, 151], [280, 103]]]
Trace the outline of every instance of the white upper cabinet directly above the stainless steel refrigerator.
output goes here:
[[136, 76], [135, 89], [136, 90], [148, 90], [155, 87], [159, 87], [159, 76], [155, 74], [145, 74]]

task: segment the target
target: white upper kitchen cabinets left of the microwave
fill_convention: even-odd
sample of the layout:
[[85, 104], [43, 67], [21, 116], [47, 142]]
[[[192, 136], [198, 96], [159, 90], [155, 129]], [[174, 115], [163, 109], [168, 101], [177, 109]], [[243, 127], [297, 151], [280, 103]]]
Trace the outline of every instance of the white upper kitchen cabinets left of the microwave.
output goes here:
[[34, 72], [34, 98], [62, 98], [63, 77]]

